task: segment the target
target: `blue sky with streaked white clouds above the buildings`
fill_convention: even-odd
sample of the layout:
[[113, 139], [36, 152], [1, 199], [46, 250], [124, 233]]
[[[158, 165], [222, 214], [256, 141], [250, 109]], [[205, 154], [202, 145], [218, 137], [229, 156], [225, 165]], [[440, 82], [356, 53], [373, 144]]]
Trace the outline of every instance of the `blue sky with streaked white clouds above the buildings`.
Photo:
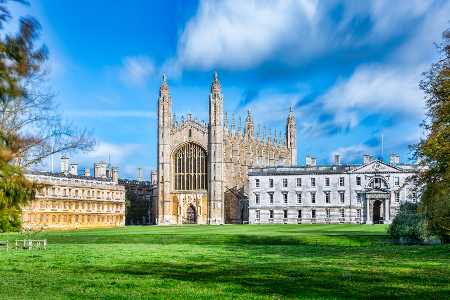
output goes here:
[[[166, 74], [172, 112], [208, 120], [219, 73], [228, 116], [284, 133], [297, 123], [297, 163], [362, 163], [363, 154], [408, 158], [425, 102], [418, 82], [439, 57], [449, 1], [30, 1], [50, 51], [49, 84], [64, 115], [94, 129], [99, 149], [69, 162], [108, 161], [119, 177], [156, 168], [158, 87]], [[230, 121], [230, 120], [229, 120]], [[255, 124], [255, 127], [256, 127]], [[244, 125], [244, 124], [243, 124]], [[261, 133], [262, 134], [262, 133]], [[55, 155], [55, 168], [59, 167]]]

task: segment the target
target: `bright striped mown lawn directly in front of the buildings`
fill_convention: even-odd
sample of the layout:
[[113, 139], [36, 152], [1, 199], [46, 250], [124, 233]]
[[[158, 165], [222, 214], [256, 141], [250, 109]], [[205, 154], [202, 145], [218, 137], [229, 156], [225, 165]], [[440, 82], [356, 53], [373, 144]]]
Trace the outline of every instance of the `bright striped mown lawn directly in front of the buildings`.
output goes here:
[[[340, 235], [361, 236], [387, 235], [388, 225], [203, 225], [203, 226], [127, 226], [112, 228], [47, 230], [45, 235], [128, 235], [128, 234], [155, 234], [155, 235]], [[16, 233], [17, 234], [17, 233]], [[1, 236], [7, 234], [1, 234]], [[6, 238], [6, 237], [3, 237]]]

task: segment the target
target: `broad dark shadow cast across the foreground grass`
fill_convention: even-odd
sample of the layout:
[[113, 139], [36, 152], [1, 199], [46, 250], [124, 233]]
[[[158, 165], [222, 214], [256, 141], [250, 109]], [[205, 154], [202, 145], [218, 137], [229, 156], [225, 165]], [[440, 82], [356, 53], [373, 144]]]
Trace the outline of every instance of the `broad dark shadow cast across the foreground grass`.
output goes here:
[[[400, 255], [393, 255], [398, 252], [396, 248], [379, 249], [377, 256], [369, 247], [349, 250], [333, 246], [246, 246], [236, 251], [224, 246], [211, 250], [217, 251], [216, 257], [205, 257], [204, 253], [189, 255], [187, 248], [188, 258], [176, 263], [127, 261], [114, 269], [92, 266], [85, 271], [133, 275], [142, 280], [147, 276], [160, 278], [167, 290], [179, 282], [191, 282], [202, 288], [219, 285], [222, 292], [277, 295], [281, 299], [450, 298], [446, 287], [448, 269], [447, 274], [438, 274], [436, 269], [424, 268], [425, 263], [421, 265], [412, 257], [399, 262], [396, 259]], [[290, 277], [295, 273], [303, 276]]]

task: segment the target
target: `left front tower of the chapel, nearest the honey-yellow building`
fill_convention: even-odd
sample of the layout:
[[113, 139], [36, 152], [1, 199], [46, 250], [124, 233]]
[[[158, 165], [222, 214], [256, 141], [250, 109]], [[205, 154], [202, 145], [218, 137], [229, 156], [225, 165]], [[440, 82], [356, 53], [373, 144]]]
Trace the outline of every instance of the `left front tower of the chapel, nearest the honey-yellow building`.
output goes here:
[[170, 131], [171, 131], [172, 100], [166, 75], [162, 76], [158, 98], [158, 143], [157, 143], [157, 224], [170, 221]]

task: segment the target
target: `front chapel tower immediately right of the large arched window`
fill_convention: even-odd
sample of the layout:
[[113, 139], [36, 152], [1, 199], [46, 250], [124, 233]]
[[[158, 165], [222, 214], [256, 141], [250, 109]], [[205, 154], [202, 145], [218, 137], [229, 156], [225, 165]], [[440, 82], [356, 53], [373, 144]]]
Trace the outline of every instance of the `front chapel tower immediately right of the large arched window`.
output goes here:
[[223, 157], [223, 95], [214, 72], [209, 95], [208, 128], [208, 215], [209, 224], [224, 224], [225, 161]]

